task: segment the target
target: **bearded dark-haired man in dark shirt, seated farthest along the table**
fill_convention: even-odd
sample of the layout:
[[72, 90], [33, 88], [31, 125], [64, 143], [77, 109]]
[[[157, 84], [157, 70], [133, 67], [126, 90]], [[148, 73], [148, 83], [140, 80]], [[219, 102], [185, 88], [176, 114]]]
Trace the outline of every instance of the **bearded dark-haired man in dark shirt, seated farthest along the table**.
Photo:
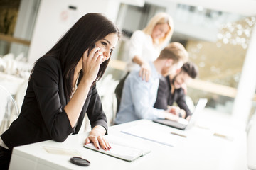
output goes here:
[[[154, 108], [166, 110], [171, 106], [169, 109], [173, 110], [172, 113], [180, 114], [182, 118], [190, 118], [191, 111], [186, 104], [186, 95], [182, 87], [186, 86], [192, 79], [195, 79], [197, 73], [196, 65], [192, 62], [186, 62], [178, 74], [161, 77]], [[174, 102], [178, 106], [173, 106]]]

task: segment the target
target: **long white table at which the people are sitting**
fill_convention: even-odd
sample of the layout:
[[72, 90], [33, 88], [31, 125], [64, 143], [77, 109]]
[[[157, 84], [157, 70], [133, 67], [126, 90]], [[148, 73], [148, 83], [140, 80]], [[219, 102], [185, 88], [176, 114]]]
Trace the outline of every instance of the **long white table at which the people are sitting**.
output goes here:
[[[162, 132], [183, 132], [187, 137], [181, 137], [178, 145], [169, 147], [120, 132], [124, 128], [142, 123], [159, 128]], [[231, 132], [233, 140], [227, 140], [223, 137], [213, 136], [213, 133], [206, 129], [194, 127], [188, 131], [181, 131], [152, 123], [151, 120], [138, 120], [122, 125], [114, 125], [110, 127], [109, 134], [143, 142], [145, 145], [151, 146], [151, 152], [133, 162], [125, 162], [122, 159], [110, 157], [82, 147], [87, 136], [87, 133], [82, 133], [71, 135], [62, 143], [49, 140], [14, 147], [9, 169], [247, 169], [246, 134], [242, 131]], [[76, 166], [69, 162], [70, 156], [49, 154], [43, 149], [43, 146], [76, 149], [91, 164], [87, 167]]]

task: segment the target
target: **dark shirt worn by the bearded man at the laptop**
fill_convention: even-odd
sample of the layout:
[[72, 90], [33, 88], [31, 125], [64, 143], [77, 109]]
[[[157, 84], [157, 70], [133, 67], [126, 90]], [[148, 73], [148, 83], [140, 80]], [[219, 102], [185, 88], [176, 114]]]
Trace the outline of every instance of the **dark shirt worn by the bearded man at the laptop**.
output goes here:
[[159, 80], [159, 89], [157, 91], [157, 98], [154, 108], [166, 110], [168, 105], [172, 106], [174, 102], [176, 102], [178, 107], [186, 111], [186, 117], [191, 115], [192, 113], [186, 104], [184, 90], [182, 88], [175, 89], [174, 94], [171, 94], [171, 82], [169, 80], [169, 76], [161, 77]]

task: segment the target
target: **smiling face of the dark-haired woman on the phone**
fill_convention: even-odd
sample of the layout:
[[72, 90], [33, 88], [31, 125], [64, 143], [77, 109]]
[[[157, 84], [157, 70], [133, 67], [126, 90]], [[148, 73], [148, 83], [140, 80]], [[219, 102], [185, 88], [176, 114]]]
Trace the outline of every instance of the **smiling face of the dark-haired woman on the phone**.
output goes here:
[[100, 47], [100, 50], [98, 51], [102, 52], [102, 55], [103, 55], [102, 61], [100, 62], [100, 64], [102, 64], [102, 62], [105, 62], [110, 58], [114, 48], [117, 45], [117, 41], [118, 41], [117, 34], [110, 33], [109, 35], [105, 36], [105, 38], [102, 38], [101, 40], [98, 40], [97, 42], [95, 42], [95, 46]]

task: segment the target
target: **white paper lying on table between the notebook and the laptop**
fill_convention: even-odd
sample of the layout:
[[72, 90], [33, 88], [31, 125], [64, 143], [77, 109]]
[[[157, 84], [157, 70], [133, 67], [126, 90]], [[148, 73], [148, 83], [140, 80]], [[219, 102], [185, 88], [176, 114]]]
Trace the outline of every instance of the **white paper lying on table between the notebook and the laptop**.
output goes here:
[[121, 132], [133, 135], [136, 137], [141, 137], [145, 140], [151, 140], [154, 142], [158, 142], [163, 145], [168, 145], [170, 147], [174, 147], [178, 140], [181, 137], [173, 135], [169, 132], [161, 132], [160, 129], [156, 129], [154, 127], [146, 126], [146, 125], [133, 125], [132, 127], [126, 128]]

